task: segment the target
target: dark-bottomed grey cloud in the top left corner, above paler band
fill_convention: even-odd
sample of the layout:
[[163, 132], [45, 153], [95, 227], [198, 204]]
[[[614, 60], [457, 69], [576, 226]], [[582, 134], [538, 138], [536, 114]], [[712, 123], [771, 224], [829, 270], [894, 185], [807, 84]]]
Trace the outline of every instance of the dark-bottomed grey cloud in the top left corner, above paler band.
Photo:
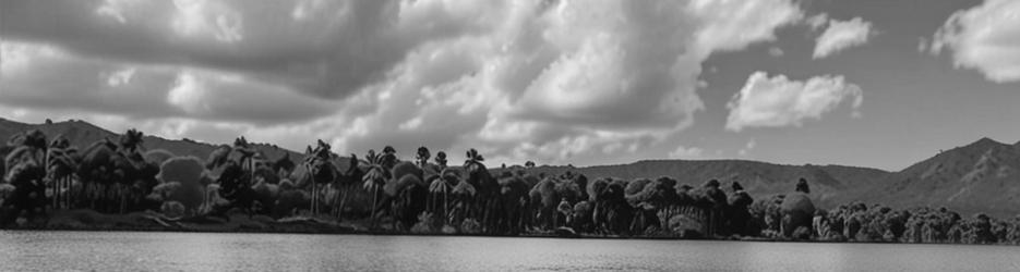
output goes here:
[[392, 24], [415, 15], [397, 13], [394, 1], [320, 1], [300, 20], [286, 15], [307, 2], [12, 0], [0, 34], [92, 58], [228, 71], [328, 99], [381, 78], [441, 35]]

